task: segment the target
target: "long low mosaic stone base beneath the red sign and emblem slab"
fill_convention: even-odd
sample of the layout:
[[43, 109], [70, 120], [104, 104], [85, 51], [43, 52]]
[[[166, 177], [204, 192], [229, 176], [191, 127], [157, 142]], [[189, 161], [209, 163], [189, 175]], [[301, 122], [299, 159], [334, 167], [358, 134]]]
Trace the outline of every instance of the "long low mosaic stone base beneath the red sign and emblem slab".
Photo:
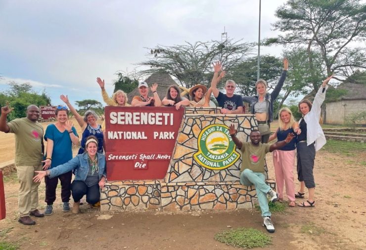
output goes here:
[[[274, 180], [266, 182], [275, 188]], [[102, 210], [224, 210], [253, 208], [256, 200], [254, 186], [243, 186], [239, 181], [115, 181], [106, 183], [100, 194]]]

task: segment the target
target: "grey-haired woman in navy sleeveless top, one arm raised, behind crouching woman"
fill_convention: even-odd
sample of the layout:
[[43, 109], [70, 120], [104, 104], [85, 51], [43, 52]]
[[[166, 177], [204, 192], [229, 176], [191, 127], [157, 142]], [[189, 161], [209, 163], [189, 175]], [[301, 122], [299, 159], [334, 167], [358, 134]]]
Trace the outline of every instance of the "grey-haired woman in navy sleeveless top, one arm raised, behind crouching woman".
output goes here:
[[74, 114], [76, 121], [80, 125], [83, 130], [83, 136], [81, 137], [80, 149], [78, 154], [83, 154], [85, 151], [85, 143], [87, 141], [88, 136], [94, 135], [98, 140], [98, 153], [103, 154], [104, 148], [104, 139], [103, 139], [103, 131], [101, 125], [97, 124], [98, 120], [97, 115], [92, 110], [87, 110], [84, 114], [84, 118], [79, 115], [76, 109], [69, 102], [69, 98], [67, 95], [61, 95], [60, 99], [66, 103], [69, 107], [70, 111]]

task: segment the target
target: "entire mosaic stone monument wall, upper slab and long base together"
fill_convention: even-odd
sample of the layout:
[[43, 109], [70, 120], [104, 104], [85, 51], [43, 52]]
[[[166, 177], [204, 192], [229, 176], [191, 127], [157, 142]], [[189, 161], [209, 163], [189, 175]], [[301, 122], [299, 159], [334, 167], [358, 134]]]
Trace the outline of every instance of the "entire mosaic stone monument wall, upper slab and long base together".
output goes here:
[[[106, 183], [100, 195], [101, 209], [252, 208], [256, 192], [253, 186], [239, 182], [241, 159], [226, 169], [212, 170], [200, 166], [193, 158], [198, 150], [199, 133], [214, 124], [234, 124], [241, 141], [248, 141], [251, 128], [257, 126], [253, 115], [221, 115], [217, 108], [187, 108], [165, 179]], [[236, 152], [240, 154], [239, 150]], [[275, 188], [273, 180], [267, 180], [267, 184]]]

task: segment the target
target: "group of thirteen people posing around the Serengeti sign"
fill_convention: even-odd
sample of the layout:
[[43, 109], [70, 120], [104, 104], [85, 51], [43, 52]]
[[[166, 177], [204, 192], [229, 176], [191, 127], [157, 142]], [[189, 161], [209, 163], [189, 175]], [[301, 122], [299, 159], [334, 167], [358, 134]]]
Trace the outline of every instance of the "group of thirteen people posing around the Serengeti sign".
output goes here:
[[[277, 98], [288, 70], [288, 61], [283, 60], [283, 72], [278, 83], [271, 93], [268, 93], [266, 81], [259, 80], [255, 84], [257, 95], [241, 96], [234, 94], [236, 83], [228, 80], [225, 83], [226, 93], [217, 88], [217, 84], [225, 77], [225, 71], [220, 63], [214, 64], [214, 76], [211, 85], [197, 84], [189, 89], [191, 100], [181, 95], [180, 88], [171, 85], [167, 94], [160, 100], [157, 93], [158, 84], [150, 87], [152, 96], [149, 95], [147, 83], [138, 84], [139, 95], [135, 96], [128, 104], [127, 94], [118, 90], [109, 97], [105, 90], [104, 80], [97, 78], [96, 81], [101, 88], [103, 100], [110, 106], [175, 106], [180, 109], [182, 106], [209, 107], [211, 94], [214, 95], [222, 114], [241, 114], [243, 101], [250, 104], [250, 111], [255, 115], [258, 122], [258, 130], [250, 133], [250, 142], [241, 142], [236, 136], [237, 130], [230, 125], [229, 133], [242, 152], [242, 167], [240, 182], [243, 185], [255, 185], [259, 205], [264, 218], [263, 225], [269, 232], [274, 232], [271, 221], [271, 212], [268, 207], [267, 196], [270, 201], [283, 200], [283, 186], [286, 186], [286, 194], [289, 206], [295, 206], [295, 198], [304, 198], [305, 187], [308, 188], [309, 198], [306, 202], [298, 204], [301, 207], [314, 207], [314, 159], [315, 152], [325, 144], [325, 137], [322, 133], [320, 119], [320, 105], [325, 98], [326, 83], [332, 78], [330, 76], [322, 83], [313, 104], [308, 100], [299, 103], [299, 112], [303, 118], [296, 122], [291, 111], [283, 108], [279, 111], [279, 127], [271, 135], [270, 123], [274, 120], [274, 100]], [[1, 108], [0, 131], [15, 133], [16, 154], [15, 165], [20, 183], [19, 188], [19, 222], [25, 225], [34, 225], [36, 222], [30, 217], [43, 217], [52, 214], [52, 205], [56, 199], [56, 187], [58, 179], [61, 183], [61, 200], [63, 211], [79, 212], [82, 197], [92, 207], [97, 207], [100, 197], [100, 188], [106, 182], [106, 161], [103, 155], [105, 147], [104, 130], [105, 125], [97, 123], [97, 115], [94, 111], [87, 111], [84, 117], [80, 116], [71, 105], [67, 95], [61, 95], [60, 99], [66, 106], [57, 106], [55, 111], [56, 123], [50, 124], [44, 133], [42, 125], [37, 121], [40, 110], [35, 105], [30, 105], [26, 111], [26, 118], [15, 119], [6, 123], [7, 114], [12, 111], [8, 105]], [[79, 135], [68, 120], [71, 111], [83, 133], [81, 146], [78, 155], [72, 157], [72, 145], [79, 143]], [[270, 145], [269, 141], [277, 139], [277, 142]], [[44, 146], [44, 139], [46, 147]], [[300, 181], [300, 190], [295, 192], [293, 166], [297, 149], [297, 172]], [[265, 183], [263, 174], [265, 155], [273, 152], [274, 170], [278, 194]], [[74, 181], [71, 182], [72, 175]], [[44, 213], [38, 207], [38, 186], [45, 178], [47, 204]], [[73, 207], [70, 208], [69, 200], [72, 196]]]

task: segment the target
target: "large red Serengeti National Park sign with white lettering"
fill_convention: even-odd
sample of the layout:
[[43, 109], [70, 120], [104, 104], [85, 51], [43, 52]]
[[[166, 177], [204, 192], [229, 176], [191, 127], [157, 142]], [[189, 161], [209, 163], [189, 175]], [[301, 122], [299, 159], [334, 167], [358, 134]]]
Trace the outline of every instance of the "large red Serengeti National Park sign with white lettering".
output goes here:
[[108, 180], [163, 179], [183, 113], [183, 107], [105, 107]]

